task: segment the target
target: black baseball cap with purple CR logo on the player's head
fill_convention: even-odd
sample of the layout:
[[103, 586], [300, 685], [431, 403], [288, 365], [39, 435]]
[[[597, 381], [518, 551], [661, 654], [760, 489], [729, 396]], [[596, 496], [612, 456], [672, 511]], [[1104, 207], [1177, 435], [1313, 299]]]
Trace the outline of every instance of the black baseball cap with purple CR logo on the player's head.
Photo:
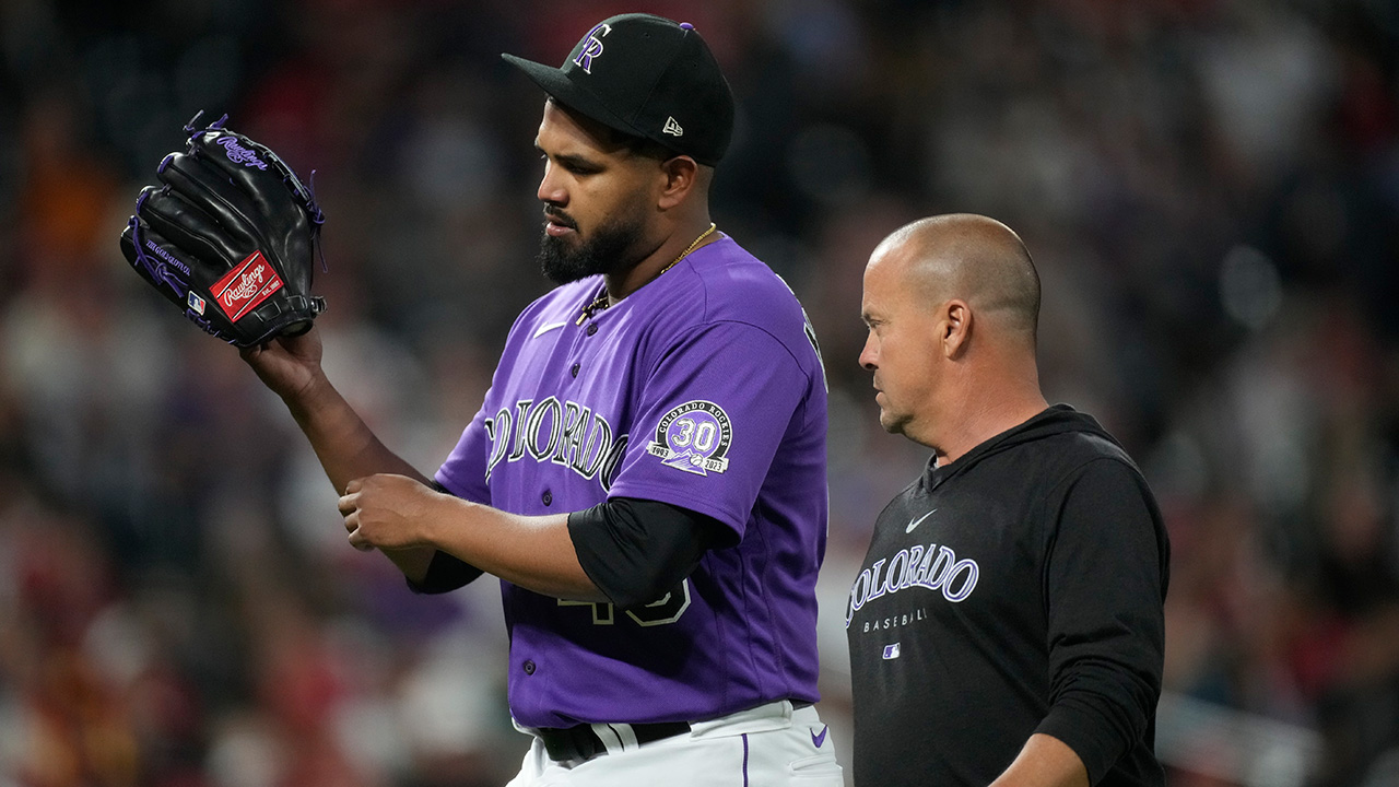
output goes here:
[[555, 102], [713, 167], [733, 137], [733, 92], [688, 22], [621, 14], [597, 22], [554, 69], [501, 55]]

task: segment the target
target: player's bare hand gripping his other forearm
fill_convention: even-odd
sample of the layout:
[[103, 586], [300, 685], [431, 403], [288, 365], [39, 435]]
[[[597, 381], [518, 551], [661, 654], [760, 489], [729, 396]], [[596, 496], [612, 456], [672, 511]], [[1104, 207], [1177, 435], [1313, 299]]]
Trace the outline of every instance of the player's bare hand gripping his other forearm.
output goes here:
[[407, 549], [431, 546], [427, 529], [442, 497], [407, 476], [381, 473], [346, 485], [339, 507], [355, 549]]

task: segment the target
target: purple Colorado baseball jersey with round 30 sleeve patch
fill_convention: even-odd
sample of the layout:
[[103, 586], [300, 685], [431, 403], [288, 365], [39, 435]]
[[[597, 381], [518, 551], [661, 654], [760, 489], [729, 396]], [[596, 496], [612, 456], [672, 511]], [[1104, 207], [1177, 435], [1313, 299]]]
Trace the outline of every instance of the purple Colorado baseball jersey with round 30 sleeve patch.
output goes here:
[[825, 378], [810, 322], [726, 237], [579, 325], [602, 290], [565, 284], [520, 314], [438, 482], [533, 515], [659, 500], [715, 517], [734, 546], [631, 611], [502, 581], [511, 713], [568, 727], [816, 702]]

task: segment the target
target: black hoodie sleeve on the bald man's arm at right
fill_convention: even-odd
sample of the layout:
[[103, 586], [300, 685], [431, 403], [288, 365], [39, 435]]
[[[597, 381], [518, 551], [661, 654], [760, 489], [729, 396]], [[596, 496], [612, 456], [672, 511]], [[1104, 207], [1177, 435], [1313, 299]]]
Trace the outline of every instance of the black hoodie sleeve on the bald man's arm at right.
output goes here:
[[1095, 784], [1146, 735], [1161, 695], [1170, 546], [1142, 475], [1094, 459], [1051, 494], [1045, 598], [1049, 713]]

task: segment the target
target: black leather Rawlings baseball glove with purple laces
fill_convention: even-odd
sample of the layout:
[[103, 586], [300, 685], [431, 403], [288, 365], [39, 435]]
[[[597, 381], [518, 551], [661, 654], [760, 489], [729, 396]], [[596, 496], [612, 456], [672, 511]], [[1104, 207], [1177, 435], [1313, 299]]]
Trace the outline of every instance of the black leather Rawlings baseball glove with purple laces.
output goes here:
[[[122, 231], [122, 253], [208, 333], [239, 347], [311, 329], [326, 309], [311, 294], [325, 214], [283, 160], [224, 127], [197, 129], [157, 169]], [[197, 130], [196, 130], [197, 129]]]

